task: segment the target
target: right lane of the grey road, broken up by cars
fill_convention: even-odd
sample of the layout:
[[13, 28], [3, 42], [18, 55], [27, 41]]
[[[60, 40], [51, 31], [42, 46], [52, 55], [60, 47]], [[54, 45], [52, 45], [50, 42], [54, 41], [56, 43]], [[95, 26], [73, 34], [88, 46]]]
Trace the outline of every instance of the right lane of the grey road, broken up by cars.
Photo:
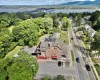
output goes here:
[[[78, 36], [79, 36], [79, 35], [78, 35]], [[81, 39], [77, 39], [77, 42], [78, 42], [78, 45], [79, 45], [80, 47], [83, 47], [83, 45], [82, 45], [82, 40], [81, 40]], [[81, 53], [82, 53], [82, 57], [85, 56], [85, 57], [87, 58], [86, 50], [82, 50]], [[84, 62], [85, 62], [85, 64], [89, 64], [89, 65], [90, 65], [88, 58], [87, 58], [87, 60], [84, 61]], [[91, 66], [91, 65], [90, 65], [90, 66]], [[91, 70], [91, 71], [88, 71], [88, 74], [89, 74], [90, 80], [96, 80], [96, 79], [95, 79], [95, 76], [94, 76], [94, 73], [93, 73], [92, 70]]]

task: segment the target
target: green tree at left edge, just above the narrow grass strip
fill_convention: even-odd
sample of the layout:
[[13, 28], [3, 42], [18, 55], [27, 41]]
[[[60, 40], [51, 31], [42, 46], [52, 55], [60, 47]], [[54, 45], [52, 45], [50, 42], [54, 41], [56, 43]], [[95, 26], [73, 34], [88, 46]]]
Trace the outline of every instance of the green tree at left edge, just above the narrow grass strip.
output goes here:
[[8, 48], [11, 44], [12, 37], [8, 29], [0, 29], [0, 58], [3, 58], [8, 52]]

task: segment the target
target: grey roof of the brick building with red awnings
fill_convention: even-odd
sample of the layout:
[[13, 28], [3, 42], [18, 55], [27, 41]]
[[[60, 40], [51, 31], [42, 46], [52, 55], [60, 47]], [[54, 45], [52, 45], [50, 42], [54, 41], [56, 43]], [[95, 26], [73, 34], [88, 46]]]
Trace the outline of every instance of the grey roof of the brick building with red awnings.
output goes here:
[[63, 42], [59, 38], [60, 38], [60, 33], [54, 33], [48, 38], [45, 38], [45, 40], [40, 44], [40, 50], [46, 51], [47, 49], [49, 49], [49, 47], [52, 46], [57, 46], [61, 49], [62, 48], [61, 45]]

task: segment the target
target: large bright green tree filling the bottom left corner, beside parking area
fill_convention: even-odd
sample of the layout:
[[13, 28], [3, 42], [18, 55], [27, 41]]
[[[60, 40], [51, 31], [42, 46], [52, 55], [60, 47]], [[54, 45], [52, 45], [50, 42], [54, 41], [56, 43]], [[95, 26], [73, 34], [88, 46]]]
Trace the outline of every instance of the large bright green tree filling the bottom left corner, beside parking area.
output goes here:
[[18, 52], [0, 60], [0, 80], [33, 80], [38, 67], [36, 58], [25, 51]]

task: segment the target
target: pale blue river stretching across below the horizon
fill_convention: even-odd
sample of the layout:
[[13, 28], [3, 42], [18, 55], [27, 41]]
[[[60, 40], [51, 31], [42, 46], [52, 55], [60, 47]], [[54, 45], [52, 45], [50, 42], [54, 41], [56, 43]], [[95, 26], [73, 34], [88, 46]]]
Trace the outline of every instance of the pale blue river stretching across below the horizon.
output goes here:
[[[16, 13], [16, 12], [25, 12], [25, 11], [31, 11], [31, 9], [2, 9], [0, 8], [0, 12], [8, 12], [8, 13]], [[83, 12], [94, 12], [95, 9], [50, 9], [50, 10], [43, 10], [44, 12], [48, 13], [83, 13]], [[32, 12], [39, 12], [37, 10], [32, 10]]]

